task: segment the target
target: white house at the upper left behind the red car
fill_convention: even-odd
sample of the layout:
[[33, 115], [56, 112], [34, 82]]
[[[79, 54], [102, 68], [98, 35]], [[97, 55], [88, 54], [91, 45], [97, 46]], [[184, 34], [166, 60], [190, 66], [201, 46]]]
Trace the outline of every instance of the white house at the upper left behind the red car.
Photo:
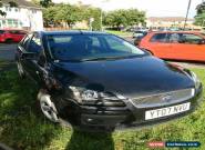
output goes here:
[[10, 0], [1, 0], [2, 11], [7, 16], [0, 16], [0, 28], [16, 28], [25, 30], [43, 30], [42, 9], [29, 0], [14, 0], [17, 8], [11, 8]]

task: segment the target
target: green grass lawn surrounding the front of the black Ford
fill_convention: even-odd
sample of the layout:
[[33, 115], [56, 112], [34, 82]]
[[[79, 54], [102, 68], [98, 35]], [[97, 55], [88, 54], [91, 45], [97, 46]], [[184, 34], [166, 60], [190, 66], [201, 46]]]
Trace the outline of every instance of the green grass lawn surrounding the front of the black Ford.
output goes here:
[[[194, 113], [151, 128], [112, 134], [72, 131], [35, 108], [37, 88], [0, 62], [0, 141], [16, 150], [148, 150], [148, 141], [199, 141], [205, 149], [205, 102]], [[205, 70], [193, 69], [205, 84]], [[204, 97], [205, 100], [205, 97]], [[173, 149], [172, 149], [173, 150]]]

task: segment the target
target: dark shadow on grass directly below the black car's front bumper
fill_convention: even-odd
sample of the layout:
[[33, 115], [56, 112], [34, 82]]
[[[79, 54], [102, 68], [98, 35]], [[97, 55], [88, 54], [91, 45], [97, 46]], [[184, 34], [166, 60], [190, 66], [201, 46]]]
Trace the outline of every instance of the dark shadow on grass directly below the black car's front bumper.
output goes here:
[[112, 133], [74, 130], [65, 150], [114, 150]]

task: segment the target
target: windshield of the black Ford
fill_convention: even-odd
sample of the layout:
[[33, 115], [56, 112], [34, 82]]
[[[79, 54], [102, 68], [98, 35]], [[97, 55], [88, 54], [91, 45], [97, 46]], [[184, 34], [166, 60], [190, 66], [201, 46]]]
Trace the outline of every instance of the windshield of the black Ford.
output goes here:
[[60, 61], [120, 59], [144, 56], [145, 52], [112, 34], [52, 34], [48, 47]]

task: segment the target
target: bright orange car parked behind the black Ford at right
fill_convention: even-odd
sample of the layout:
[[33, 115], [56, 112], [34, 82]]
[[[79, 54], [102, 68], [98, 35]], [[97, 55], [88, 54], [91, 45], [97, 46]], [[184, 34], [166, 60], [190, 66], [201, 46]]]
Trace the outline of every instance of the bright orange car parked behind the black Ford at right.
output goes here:
[[139, 47], [162, 59], [205, 62], [205, 33], [203, 32], [150, 32], [140, 41]]

